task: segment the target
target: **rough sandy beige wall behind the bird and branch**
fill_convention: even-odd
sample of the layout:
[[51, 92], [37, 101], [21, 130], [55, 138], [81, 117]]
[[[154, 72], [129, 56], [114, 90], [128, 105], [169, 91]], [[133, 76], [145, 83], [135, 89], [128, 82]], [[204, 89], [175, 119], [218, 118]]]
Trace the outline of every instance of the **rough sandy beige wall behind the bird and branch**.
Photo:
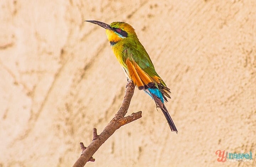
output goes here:
[[[256, 1], [0, 1], [0, 166], [71, 166], [126, 77], [105, 30], [126, 21], [171, 89], [172, 133], [143, 91], [87, 166], [256, 166]], [[217, 162], [215, 151], [252, 152]]]

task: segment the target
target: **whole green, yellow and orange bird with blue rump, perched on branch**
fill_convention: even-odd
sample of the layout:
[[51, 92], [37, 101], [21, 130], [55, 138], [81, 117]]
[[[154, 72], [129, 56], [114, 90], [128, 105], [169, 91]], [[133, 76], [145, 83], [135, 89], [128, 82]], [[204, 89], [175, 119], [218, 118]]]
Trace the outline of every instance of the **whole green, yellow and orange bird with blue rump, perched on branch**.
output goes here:
[[107, 39], [121, 64], [124, 73], [139, 90], [144, 90], [153, 98], [167, 119], [171, 131], [178, 133], [167, 111], [164, 101], [170, 97], [170, 89], [156, 73], [154, 65], [132, 26], [125, 22], [113, 22], [110, 25], [100, 21], [87, 21], [106, 29]]

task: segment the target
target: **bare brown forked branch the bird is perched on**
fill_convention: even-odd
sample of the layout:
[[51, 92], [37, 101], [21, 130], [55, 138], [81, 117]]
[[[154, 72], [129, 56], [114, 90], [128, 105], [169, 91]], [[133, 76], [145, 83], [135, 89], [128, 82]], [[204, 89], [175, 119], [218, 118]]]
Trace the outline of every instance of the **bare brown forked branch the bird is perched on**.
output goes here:
[[92, 158], [92, 155], [100, 148], [100, 146], [121, 126], [128, 124], [130, 122], [133, 122], [134, 120], [137, 120], [142, 117], [142, 111], [139, 111], [137, 113], [132, 113], [131, 115], [128, 115], [127, 117], [124, 117], [126, 115], [127, 110], [130, 105], [130, 101], [132, 99], [134, 92], [134, 84], [132, 81], [129, 81], [126, 84], [126, 92], [124, 95], [123, 102], [121, 104], [121, 107], [119, 108], [118, 112], [114, 116], [114, 118], [110, 121], [110, 123], [107, 124], [107, 126], [104, 128], [102, 133], [100, 135], [97, 135], [97, 129], [93, 129], [93, 140], [91, 144], [88, 147], [85, 147], [84, 144], [81, 142], [80, 146], [82, 149], [82, 154], [78, 158], [78, 160], [75, 162], [73, 167], [83, 167], [85, 166], [86, 162], [88, 161], [95, 161], [94, 158]]

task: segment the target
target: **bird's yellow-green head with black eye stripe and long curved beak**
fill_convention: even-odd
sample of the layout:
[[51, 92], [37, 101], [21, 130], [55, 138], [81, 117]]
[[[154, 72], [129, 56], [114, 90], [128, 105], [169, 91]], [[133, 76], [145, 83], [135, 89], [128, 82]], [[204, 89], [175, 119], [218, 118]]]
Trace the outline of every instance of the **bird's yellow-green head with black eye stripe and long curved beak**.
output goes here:
[[112, 44], [129, 37], [137, 37], [134, 28], [125, 22], [112, 22], [110, 25], [95, 20], [88, 20], [87, 22], [91, 22], [105, 28], [108, 41]]

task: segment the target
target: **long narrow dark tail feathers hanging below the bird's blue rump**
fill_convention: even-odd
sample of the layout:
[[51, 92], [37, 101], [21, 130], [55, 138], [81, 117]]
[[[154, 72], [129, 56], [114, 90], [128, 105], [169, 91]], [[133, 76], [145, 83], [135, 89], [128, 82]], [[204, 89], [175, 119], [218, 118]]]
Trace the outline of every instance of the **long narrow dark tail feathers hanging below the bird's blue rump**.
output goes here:
[[173, 120], [171, 119], [171, 116], [170, 116], [169, 112], [167, 111], [167, 108], [165, 107], [164, 103], [161, 101], [161, 99], [159, 97], [157, 97], [153, 93], [151, 93], [151, 96], [156, 103], [156, 107], [160, 108], [162, 110], [162, 112], [171, 128], [171, 131], [175, 131], [178, 134], [178, 130], [177, 130]]

